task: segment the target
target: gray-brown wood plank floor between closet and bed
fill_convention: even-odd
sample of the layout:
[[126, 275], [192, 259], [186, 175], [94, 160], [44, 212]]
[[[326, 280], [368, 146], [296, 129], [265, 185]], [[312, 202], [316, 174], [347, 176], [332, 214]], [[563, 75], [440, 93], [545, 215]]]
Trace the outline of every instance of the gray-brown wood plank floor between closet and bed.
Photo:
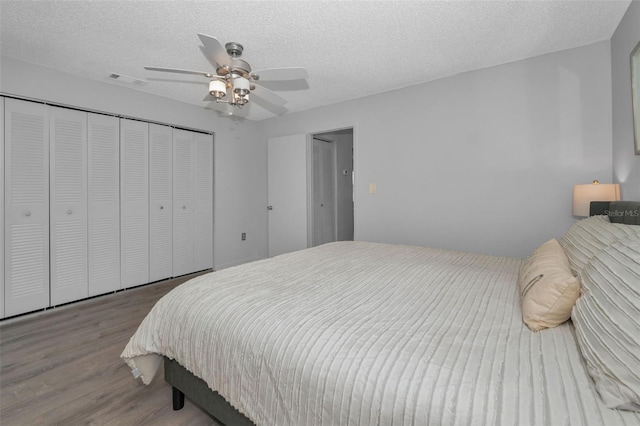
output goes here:
[[145, 386], [120, 359], [154, 303], [185, 280], [0, 322], [0, 424], [217, 425], [188, 400], [173, 411], [162, 372]]

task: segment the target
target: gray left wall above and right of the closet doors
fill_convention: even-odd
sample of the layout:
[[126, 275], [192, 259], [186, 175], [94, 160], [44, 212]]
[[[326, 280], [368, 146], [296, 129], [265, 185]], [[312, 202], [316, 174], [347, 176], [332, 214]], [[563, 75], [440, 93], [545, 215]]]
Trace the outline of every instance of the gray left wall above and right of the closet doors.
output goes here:
[[[266, 145], [252, 122], [2, 57], [0, 92], [215, 132], [214, 266], [266, 257]], [[240, 234], [247, 232], [247, 241]]]

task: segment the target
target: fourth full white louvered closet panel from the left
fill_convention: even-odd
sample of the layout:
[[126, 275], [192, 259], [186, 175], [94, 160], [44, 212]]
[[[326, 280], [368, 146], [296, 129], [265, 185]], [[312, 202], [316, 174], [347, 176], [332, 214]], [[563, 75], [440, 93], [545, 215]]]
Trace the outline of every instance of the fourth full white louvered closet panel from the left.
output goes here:
[[149, 282], [149, 124], [120, 119], [121, 286]]

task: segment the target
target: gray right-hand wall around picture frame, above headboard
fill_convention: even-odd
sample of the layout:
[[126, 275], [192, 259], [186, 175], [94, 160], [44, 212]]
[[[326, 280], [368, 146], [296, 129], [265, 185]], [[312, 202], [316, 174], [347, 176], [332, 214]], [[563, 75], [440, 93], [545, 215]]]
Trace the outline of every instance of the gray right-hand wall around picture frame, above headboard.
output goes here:
[[631, 51], [640, 42], [640, 1], [632, 1], [611, 38], [613, 178], [623, 200], [640, 200], [640, 155], [634, 155]]

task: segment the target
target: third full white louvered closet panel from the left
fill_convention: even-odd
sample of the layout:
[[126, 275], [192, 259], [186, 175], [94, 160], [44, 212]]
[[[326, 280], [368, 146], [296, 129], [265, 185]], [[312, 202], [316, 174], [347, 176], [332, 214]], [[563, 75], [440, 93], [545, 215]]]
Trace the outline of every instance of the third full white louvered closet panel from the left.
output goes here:
[[89, 295], [120, 289], [120, 119], [89, 113]]

